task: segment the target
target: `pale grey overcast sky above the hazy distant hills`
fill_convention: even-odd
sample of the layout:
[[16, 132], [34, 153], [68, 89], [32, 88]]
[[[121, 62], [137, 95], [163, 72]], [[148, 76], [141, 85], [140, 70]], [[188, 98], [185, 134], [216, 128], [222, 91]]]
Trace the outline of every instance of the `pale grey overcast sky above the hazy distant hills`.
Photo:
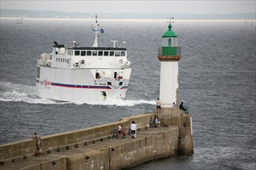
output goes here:
[[143, 13], [246, 13], [255, 12], [255, 1], [228, 0], [228, 1], [13, 1], [1, 0], [1, 8], [51, 10], [61, 12], [88, 12], [88, 13], [116, 13], [116, 12], [143, 12]]

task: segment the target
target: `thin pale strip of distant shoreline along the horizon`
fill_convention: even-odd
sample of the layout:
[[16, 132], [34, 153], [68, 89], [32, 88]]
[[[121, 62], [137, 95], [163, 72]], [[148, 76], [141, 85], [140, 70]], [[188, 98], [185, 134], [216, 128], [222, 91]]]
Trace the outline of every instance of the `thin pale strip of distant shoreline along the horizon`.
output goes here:
[[[13, 19], [13, 17], [0, 17], [0, 19]], [[50, 19], [50, 18], [23, 18], [23, 20], [52, 20], [52, 21], [94, 21], [95, 19]], [[166, 19], [98, 19], [106, 22], [167, 22]], [[255, 19], [252, 19], [255, 22]], [[244, 19], [175, 19], [175, 22], [245, 22]], [[247, 19], [251, 22], [251, 19]]]

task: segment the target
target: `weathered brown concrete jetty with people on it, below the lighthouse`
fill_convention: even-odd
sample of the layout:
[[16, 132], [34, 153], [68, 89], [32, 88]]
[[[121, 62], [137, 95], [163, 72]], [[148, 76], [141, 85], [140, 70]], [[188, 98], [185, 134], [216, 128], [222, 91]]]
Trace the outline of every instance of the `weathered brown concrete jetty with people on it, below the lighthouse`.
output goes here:
[[[160, 117], [161, 128], [149, 128], [150, 117], [155, 115]], [[128, 131], [132, 121], [137, 124], [137, 138], [112, 139], [119, 124]], [[40, 155], [35, 154], [33, 139], [0, 145], [0, 169], [120, 169], [158, 158], [191, 155], [192, 115], [168, 108], [161, 114], [124, 117], [111, 124], [43, 136], [41, 140]]]

